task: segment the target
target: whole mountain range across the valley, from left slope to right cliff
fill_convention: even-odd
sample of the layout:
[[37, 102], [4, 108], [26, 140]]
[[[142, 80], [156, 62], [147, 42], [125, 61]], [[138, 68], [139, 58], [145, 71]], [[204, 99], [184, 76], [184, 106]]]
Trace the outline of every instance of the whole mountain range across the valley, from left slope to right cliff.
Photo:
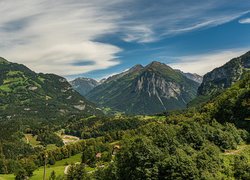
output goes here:
[[100, 108], [126, 114], [183, 109], [190, 101], [198, 104], [202, 98], [231, 87], [249, 68], [247, 52], [204, 77], [153, 61], [99, 82], [81, 77], [69, 83], [63, 77], [35, 73], [0, 58], [0, 118], [27, 114], [44, 118], [46, 114], [45, 119], [56, 119], [66, 114], [102, 114]]

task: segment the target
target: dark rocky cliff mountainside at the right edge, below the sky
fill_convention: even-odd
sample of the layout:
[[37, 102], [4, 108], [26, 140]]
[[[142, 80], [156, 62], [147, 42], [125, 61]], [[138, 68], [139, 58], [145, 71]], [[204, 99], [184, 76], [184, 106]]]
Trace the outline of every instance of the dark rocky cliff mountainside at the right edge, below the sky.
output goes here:
[[212, 95], [232, 86], [241, 79], [243, 73], [249, 68], [250, 51], [204, 75], [203, 82], [198, 89], [198, 95]]

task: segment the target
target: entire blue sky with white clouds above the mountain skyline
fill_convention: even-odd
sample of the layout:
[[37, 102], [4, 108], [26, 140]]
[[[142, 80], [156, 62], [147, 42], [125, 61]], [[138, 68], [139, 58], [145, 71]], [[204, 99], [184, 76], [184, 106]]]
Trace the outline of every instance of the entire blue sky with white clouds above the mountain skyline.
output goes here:
[[0, 56], [101, 79], [153, 60], [204, 74], [250, 50], [246, 0], [6, 0]]

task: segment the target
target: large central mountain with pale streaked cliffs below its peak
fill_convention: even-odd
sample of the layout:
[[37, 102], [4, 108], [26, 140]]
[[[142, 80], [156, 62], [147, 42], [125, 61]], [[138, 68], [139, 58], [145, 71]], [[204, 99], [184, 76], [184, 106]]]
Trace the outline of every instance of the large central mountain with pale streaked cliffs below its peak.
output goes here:
[[87, 94], [100, 106], [127, 114], [154, 114], [185, 108], [199, 83], [159, 62], [136, 65], [112, 76]]

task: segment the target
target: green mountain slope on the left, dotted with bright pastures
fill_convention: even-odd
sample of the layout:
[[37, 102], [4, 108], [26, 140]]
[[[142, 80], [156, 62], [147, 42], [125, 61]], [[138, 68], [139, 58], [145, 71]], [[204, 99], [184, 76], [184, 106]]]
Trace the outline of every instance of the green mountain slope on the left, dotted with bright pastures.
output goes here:
[[0, 119], [53, 120], [72, 113], [99, 114], [63, 77], [35, 73], [0, 59]]

